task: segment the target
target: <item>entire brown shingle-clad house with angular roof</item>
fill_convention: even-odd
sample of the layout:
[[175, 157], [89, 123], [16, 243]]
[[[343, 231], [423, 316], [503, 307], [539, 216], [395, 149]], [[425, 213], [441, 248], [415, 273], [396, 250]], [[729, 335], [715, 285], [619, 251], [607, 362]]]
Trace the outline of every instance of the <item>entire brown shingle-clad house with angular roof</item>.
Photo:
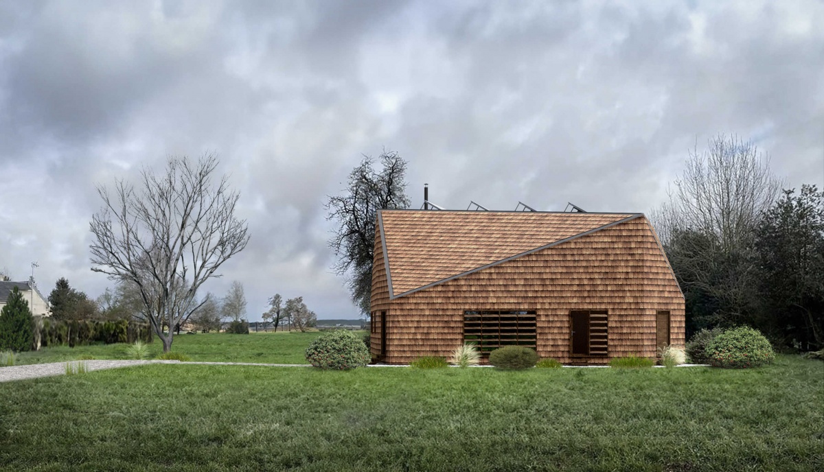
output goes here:
[[684, 296], [640, 213], [382, 210], [371, 311], [388, 363], [465, 342], [567, 364], [685, 343]]

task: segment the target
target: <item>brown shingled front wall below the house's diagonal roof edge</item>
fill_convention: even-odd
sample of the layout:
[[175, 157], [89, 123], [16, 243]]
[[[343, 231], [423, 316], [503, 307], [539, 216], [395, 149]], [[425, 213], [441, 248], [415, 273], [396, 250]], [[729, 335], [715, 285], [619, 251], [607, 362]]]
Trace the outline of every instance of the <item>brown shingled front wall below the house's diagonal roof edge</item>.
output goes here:
[[561, 362], [573, 362], [571, 310], [609, 311], [610, 357], [654, 357], [660, 310], [671, 312], [672, 344], [684, 344], [684, 300], [644, 217], [391, 301], [386, 361], [448, 356], [463, 311], [483, 309], [537, 311], [538, 353]]

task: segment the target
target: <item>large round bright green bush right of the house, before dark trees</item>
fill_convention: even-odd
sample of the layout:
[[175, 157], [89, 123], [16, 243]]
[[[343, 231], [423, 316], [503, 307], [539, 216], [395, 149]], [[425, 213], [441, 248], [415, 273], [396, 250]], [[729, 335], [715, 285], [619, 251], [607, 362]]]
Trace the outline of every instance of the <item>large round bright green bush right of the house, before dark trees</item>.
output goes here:
[[749, 326], [727, 329], [715, 336], [706, 352], [711, 365], [728, 369], [758, 367], [775, 360], [770, 341]]

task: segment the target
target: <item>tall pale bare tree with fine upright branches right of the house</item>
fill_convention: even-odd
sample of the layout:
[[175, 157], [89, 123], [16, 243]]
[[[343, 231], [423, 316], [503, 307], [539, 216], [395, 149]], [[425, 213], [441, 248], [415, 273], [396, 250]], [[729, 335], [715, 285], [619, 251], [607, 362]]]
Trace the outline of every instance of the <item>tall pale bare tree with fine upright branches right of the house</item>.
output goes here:
[[718, 136], [706, 152], [690, 153], [668, 201], [653, 212], [688, 301], [690, 290], [713, 299], [714, 323], [740, 322], [752, 300], [756, 227], [780, 189], [755, 145]]

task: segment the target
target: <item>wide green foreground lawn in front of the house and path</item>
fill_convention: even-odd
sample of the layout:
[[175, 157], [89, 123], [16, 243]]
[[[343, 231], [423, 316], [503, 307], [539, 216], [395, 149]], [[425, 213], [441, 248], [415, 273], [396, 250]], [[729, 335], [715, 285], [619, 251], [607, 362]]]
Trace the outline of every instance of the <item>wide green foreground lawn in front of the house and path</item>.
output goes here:
[[824, 362], [526, 372], [180, 364], [15, 381], [0, 384], [0, 466], [824, 470]]

